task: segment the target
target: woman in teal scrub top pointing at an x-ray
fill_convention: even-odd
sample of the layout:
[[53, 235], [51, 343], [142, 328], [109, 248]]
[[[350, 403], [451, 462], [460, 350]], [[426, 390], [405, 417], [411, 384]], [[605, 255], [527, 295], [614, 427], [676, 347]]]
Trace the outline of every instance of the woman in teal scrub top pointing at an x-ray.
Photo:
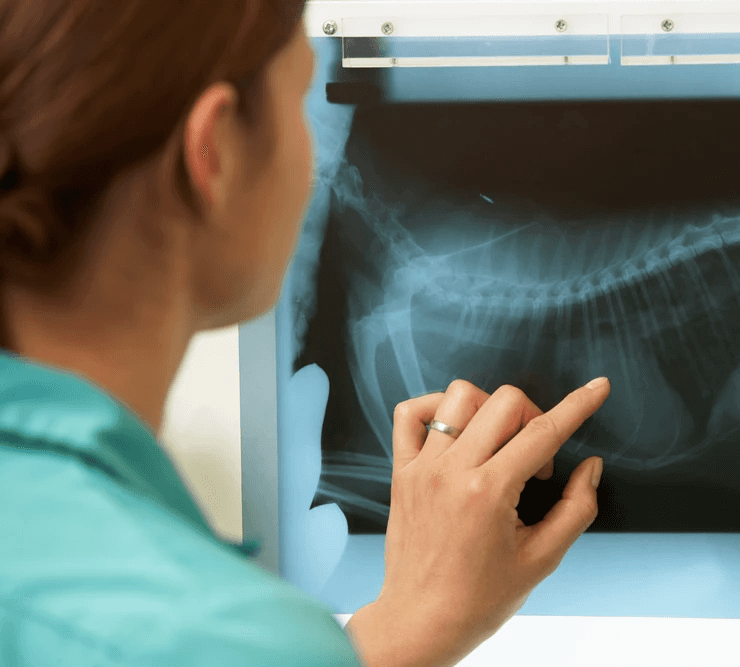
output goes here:
[[539, 419], [462, 381], [401, 403], [385, 583], [346, 634], [219, 541], [155, 434], [191, 337], [279, 298], [314, 56], [303, 0], [215, 7], [0, 0], [0, 663], [454, 664], [595, 518], [598, 459], [540, 524], [515, 508], [608, 383]]

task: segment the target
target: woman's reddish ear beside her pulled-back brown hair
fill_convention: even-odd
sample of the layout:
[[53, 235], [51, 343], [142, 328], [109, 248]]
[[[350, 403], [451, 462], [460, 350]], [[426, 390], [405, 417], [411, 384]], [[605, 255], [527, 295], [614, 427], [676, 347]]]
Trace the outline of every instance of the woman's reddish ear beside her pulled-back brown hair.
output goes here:
[[224, 156], [219, 156], [216, 142], [217, 123], [228, 107], [236, 110], [237, 103], [237, 92], [231, 84], [215, 83], [198, 98], [185, 125], [185, 166], [209, 206], [222, 201], [225, 192]]

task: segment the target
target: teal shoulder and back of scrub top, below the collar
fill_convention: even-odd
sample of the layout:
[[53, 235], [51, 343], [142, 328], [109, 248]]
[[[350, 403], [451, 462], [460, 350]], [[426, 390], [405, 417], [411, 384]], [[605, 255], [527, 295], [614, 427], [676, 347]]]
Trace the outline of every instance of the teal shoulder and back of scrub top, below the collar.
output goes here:
[[359, 664], [329, 609], [80, 460], [0, 446], [0, 488], [0, 641], [43, 647], [27, 664]]

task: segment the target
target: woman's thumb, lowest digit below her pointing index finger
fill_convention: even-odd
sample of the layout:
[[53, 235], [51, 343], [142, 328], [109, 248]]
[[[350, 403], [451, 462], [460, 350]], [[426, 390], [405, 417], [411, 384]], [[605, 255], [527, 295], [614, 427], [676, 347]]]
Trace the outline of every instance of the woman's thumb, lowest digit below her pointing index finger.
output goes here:
[[548, 574], [560, 561], [599, 513], [596, 489], [591, 484], [594, 466], [601, 459], [594, 456], [581, 461], [563, 489], [563, 497], [538, 524], [530, 526], [527, 552], [541, 563]]

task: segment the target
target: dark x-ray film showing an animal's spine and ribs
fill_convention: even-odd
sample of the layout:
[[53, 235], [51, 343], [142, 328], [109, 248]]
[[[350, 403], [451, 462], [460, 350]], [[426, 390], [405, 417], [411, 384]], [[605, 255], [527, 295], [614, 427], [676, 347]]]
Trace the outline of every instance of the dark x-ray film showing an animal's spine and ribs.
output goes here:
[[740, 530], [740, 108], [633, 109], [347, 121], [320, 173], [328, 213], [304, 230], [315, 280], [294, 274], [294, 370], [329, 377], [314, 504], [336, 502], [350, 532], [385, 530], [400, 401], [463, 378], [548, 410], [599, 375], [611, 395], [527, 484], [525, 523], [599, 455], [594, 530]]

